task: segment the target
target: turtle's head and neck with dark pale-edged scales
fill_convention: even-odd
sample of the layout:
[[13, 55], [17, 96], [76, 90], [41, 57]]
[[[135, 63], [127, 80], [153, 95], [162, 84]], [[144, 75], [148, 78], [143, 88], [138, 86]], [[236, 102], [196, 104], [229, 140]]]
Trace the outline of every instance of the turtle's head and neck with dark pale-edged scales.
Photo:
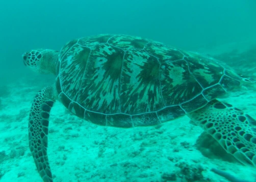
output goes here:
[[59, 52], [51, 49], [36, 49], [22, 55], [23, 63], [35, 72], [56, 73]]

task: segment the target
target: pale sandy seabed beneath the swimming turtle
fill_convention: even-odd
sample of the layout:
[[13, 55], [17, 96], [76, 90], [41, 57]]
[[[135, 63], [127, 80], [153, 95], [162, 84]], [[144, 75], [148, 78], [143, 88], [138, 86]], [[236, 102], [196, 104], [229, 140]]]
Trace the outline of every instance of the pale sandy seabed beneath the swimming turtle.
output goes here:
[[[28, 115], [40, 89], [24, 80], [6, 85], [0, 99], [0, 181], [42, 181], [28, 148]], [[36, 85], [36, 83], [35, 83]], [[256, 118], [255, 91], [221, 99]], [[72, 115], [60, 103], [51, 110], [48, 158], [54, 181], [228, 181], [217, 168], [254, 181], [255, 167], [208, 158], [197, 150], [203, 132], [187, 116], [152, 127], [102, 127]]]

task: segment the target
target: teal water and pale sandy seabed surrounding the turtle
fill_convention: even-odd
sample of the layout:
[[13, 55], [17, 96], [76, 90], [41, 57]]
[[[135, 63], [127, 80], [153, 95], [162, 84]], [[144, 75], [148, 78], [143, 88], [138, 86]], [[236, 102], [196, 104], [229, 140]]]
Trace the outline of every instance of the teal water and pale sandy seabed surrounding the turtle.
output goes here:
[[[213, 56], [256, 79], [256, 1], [1, 1], [0, 181], [41, 181], [28, 148], [28, 115], [36, 93], [54, 82], [25, 67], [34, 48], [60, 50], [66, 42], [101, 33], [140, 36]], [[255, 89], [221, 101], [256, 118]], [[56, 103], [48, 157], [54, 181], [228, 181], [217, 168], [254, 181], [244, 166], [182, 117], [120, 129], [79, 119]]]

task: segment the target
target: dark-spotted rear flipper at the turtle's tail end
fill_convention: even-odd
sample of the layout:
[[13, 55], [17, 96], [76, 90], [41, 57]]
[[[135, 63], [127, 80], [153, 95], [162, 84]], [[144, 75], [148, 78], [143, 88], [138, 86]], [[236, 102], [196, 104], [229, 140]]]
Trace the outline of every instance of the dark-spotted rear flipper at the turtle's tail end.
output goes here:
[[243, 164], [256, 166], [256, 120], [240, 109], [217, 100], [188, 114]]

